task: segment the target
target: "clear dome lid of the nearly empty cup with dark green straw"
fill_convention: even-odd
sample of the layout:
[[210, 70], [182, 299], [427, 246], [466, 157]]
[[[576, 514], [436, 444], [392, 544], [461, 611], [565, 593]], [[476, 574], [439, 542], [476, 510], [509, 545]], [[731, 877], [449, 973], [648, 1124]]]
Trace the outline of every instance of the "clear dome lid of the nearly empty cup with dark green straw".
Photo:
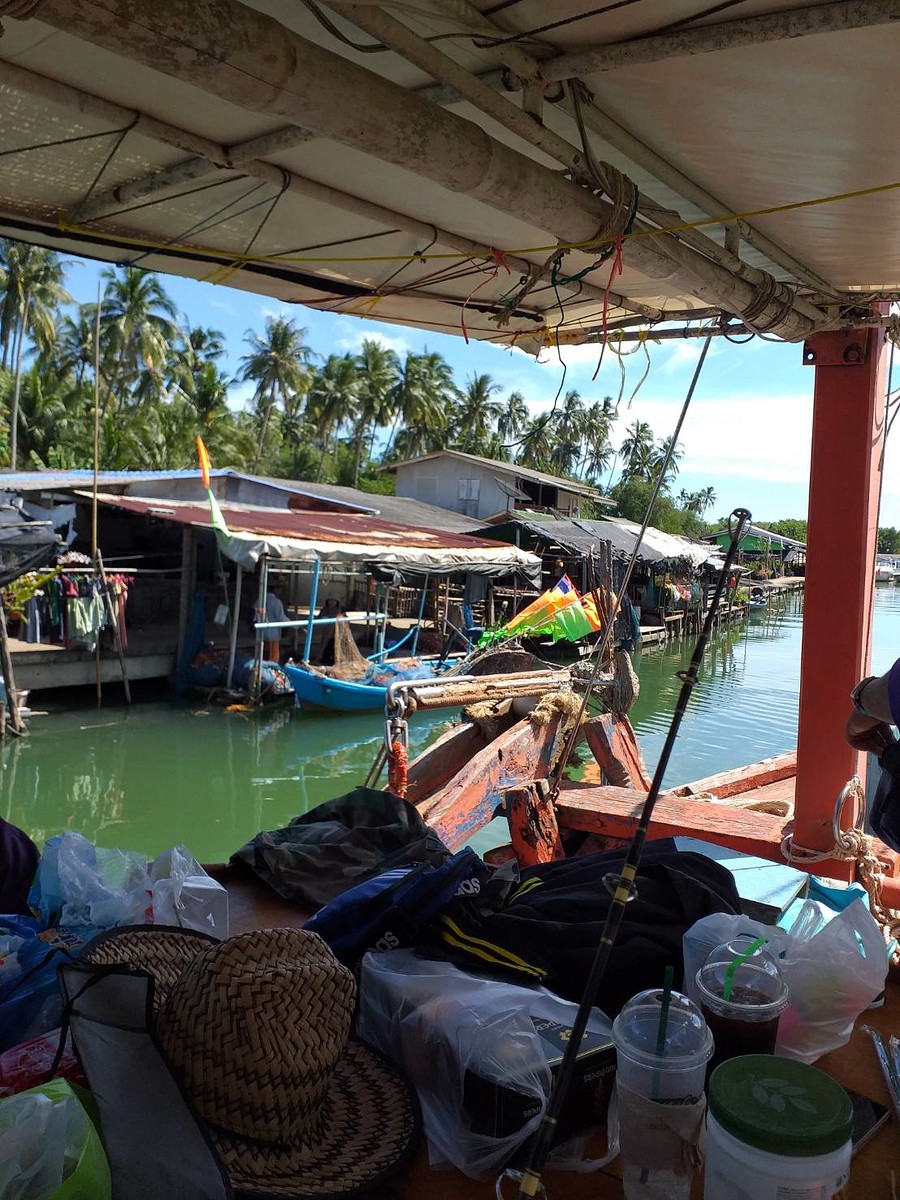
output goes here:
[[[616, 1049], [644, 1066], [658, 1066], [659, 1027], [662, 989], [650, 988], [638, 992], [622, 1009], [612, 1024]], [[713, 1055], [713, 1034], [703, 1014], [679, 991], [670, 997], [662, 1057], [672, 1070], [692, 1068]]]

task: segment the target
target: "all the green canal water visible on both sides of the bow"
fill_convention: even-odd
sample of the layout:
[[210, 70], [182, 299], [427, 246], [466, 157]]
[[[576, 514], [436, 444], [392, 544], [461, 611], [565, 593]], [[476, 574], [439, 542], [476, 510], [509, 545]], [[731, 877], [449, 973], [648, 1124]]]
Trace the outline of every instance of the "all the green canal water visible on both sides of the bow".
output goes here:
[[[686, 782], [779, 754], [797, 742], [800, 594], [754, 614], [710, 643], [666, 781]], [[900, 656], [900, 587], [876, 589], [874, 670]], [[653, 770], [691, 646], [636, 656], [641, 696], [631, 713]], [[110, 701], [115, 690], [109, 689]], [[371, 715], [269, 715], [170, 702], [139, 692], [131, 710], [59, 694], [31, 733], [7, 743], [0, 814], [38, 845], [78, 829], [102, 846], [155, 854], [184, 842], [205, 862], [227, 858], [259, 829], [362, 782], [382, 737]], [[145, 698], [144, 698], [145, 697]], [[410, 722], [410, 750], [449, 715]]]

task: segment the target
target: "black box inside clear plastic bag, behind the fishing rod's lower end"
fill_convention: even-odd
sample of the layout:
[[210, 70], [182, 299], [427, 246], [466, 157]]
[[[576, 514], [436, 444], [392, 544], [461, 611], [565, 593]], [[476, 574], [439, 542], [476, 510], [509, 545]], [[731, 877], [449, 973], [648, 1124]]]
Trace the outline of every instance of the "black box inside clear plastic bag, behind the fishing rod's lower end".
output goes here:
[[[556, 1080], [571, 1036], [571, 1026], [534, 1016], [532, 1024], [540, 1036], [541, 1049]], [[553, 1139], [554, 1146], [604, 1123], [614, 1079], [616, 1048], [608, 1037], [588, 1030], [582, 1038], [575, 1074]], [[534, 1096], [526, 1096], [496, 1080], [466, 1072], [463, 1109], [474, 1133], [509, 1138], [530, 1121], [540, 1108], [540, 1102]]]

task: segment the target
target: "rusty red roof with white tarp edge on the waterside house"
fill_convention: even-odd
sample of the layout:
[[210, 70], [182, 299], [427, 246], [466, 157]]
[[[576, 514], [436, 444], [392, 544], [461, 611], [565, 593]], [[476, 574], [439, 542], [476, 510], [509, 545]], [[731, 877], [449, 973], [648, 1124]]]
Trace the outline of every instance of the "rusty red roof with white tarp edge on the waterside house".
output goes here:
[[[211, 529], [205, 504], [131, 496], [98, 497], [102, 504], [176, 524]], [[416, 575], [523, 575], [540, 582], [540, 558], [516, 546], [382, 521], [361, 512], [288, 512], [223, 504], [227, 558], [253, 570], [263, 557], [292, 563], [372, 563]]]

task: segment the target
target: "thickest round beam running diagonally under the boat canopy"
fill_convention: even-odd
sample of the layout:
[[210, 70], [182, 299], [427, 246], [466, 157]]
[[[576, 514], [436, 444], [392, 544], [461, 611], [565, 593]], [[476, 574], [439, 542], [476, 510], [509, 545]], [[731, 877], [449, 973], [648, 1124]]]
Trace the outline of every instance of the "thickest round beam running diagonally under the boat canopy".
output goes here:
[[[18, 6], [0, 0], [0, 13], [5, 7]], [[247, 112], [281, 116], [409, 170], [563, 244], [590, 245], [613, 221], [612, 206], [592, 191], [236, 0], [158, 0], [139, 16], [128, 0], [108, 0], [102, 8], [35, 0], [30, 12]], [[791, 341], [827, 324], [826, 313], [799, 312], [784, 287], [751, 283], [671, 234], [631, 239], [624, 254], [647, 278], [738, 317], [752, 313], [760, 328]]]

